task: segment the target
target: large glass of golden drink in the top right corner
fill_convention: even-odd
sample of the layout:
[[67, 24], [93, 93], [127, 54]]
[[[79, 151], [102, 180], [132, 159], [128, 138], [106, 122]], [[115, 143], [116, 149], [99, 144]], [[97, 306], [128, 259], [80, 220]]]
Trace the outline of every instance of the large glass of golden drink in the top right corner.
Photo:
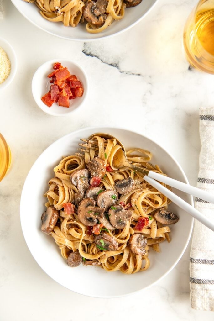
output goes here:
[[184, 49], [195, 68], [214, 74], [214, 0], [200, 0], [184, 28]]

